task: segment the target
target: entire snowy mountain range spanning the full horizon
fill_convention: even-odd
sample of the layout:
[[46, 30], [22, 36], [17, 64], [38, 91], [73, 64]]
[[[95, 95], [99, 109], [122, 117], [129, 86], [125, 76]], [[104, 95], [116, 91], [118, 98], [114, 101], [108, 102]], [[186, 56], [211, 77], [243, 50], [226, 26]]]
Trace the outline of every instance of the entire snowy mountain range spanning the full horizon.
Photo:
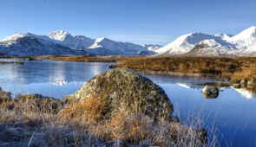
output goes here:
[[142, 56], [256, 56], [256, 27], [237, 35], [207, 35], [200, 32], [181, 35], [164, 47], [151, 44], [92, 39], [56, 30], [49, 35], [14, 34], [0, 41], [0, 53], [6, 55], [142, 55]]

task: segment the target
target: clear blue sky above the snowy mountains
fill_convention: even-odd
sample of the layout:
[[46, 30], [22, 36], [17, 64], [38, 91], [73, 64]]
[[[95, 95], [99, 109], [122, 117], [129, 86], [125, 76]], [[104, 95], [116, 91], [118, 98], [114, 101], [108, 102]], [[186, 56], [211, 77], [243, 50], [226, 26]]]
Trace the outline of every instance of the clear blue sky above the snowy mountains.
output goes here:
[[63, 29], [166, 45], [191, 32], [237, 34], [256, 25], [255, 8], [256, 0], [1, 0], [0, 40]]

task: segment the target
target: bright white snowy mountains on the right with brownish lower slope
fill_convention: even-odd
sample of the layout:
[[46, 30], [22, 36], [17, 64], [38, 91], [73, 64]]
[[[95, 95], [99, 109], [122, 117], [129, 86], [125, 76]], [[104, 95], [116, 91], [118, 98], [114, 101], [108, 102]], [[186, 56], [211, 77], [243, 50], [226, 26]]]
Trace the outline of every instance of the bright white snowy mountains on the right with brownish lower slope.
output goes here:
[[255, 56], [256, 27], [246, 29], [238, 35], [181, 35], [156, 52], [161, 56]]

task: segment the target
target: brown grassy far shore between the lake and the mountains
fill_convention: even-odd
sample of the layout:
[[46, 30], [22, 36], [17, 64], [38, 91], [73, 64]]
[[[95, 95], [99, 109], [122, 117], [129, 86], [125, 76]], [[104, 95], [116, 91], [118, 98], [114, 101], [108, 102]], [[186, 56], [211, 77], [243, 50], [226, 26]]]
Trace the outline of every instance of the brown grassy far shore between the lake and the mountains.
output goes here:
[[[109, 68], [126, 67], [140, 74], [211, 78], [228, 81], [232, 86], [245, 87], [256, 93], [256, 57], [143, 57], [85, 54], [3, 56], [0, 58], [28, 59], [28, 61], [113, 62], [116, 64]], [[249, 82], [249, 86], [245, 85], [245, 81], [246, 84], [247, 81]]]

